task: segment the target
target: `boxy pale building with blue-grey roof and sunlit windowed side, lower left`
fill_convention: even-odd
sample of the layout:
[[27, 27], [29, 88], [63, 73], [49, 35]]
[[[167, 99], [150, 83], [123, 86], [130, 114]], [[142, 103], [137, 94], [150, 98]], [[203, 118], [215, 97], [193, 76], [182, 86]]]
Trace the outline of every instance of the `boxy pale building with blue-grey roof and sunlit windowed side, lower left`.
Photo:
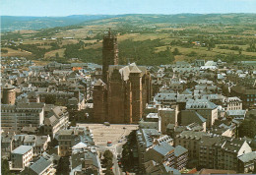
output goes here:
[[32, 146], [19, 146], [11, 153], [10, 170], [24, 170], [32, 161]]

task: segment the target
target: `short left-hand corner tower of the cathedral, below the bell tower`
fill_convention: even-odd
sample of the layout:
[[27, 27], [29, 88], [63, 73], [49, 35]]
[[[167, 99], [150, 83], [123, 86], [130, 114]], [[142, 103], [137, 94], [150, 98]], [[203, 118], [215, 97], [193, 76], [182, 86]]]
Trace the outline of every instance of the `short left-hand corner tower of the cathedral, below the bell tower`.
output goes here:
[[95, 122], [103, 123], [107, 119], [107, 88], [100, 79], [94, 86], [93, 95]]

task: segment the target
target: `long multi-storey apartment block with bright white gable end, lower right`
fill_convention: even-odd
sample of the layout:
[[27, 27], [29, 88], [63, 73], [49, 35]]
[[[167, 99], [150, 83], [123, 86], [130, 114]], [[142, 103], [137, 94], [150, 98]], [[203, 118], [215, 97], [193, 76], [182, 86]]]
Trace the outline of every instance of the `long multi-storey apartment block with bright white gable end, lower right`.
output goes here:
[[[220, 135], [202, 137], [199, 142], [199, 166], [211, 169], [225, 169], [242, 171], [246, 167], [242, 161], [246, 161], [252, 150], [243, 139], [233, 139]], [[245, 155], [247, 154], [247, 155]], [[238, 170], [238, 162], [240, 170]], [[250, 162], [252, 166], [253, 161]]]

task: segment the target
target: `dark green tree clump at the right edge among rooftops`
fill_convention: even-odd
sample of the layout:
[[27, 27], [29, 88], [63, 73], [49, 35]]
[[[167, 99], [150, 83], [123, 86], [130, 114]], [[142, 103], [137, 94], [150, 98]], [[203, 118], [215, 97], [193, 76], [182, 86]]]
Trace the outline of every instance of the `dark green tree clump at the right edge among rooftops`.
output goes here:
[[256, 136], [256, 121], [253, 119], [244, 120], [238, 127], [238, 136], [240, 138], [254, 138]]

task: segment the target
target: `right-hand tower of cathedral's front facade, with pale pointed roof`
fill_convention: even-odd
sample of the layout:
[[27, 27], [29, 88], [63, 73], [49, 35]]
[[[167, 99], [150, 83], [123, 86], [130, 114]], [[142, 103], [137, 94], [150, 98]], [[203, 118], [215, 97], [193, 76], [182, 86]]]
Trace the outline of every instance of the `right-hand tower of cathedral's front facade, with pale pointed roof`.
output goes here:
[[131, 82], [132, 91], [132, 122], [137, 123], [142, 118], [143, 102], [142, 102], [142, 71], [135, 65], [131, 69], [129, 80]]

